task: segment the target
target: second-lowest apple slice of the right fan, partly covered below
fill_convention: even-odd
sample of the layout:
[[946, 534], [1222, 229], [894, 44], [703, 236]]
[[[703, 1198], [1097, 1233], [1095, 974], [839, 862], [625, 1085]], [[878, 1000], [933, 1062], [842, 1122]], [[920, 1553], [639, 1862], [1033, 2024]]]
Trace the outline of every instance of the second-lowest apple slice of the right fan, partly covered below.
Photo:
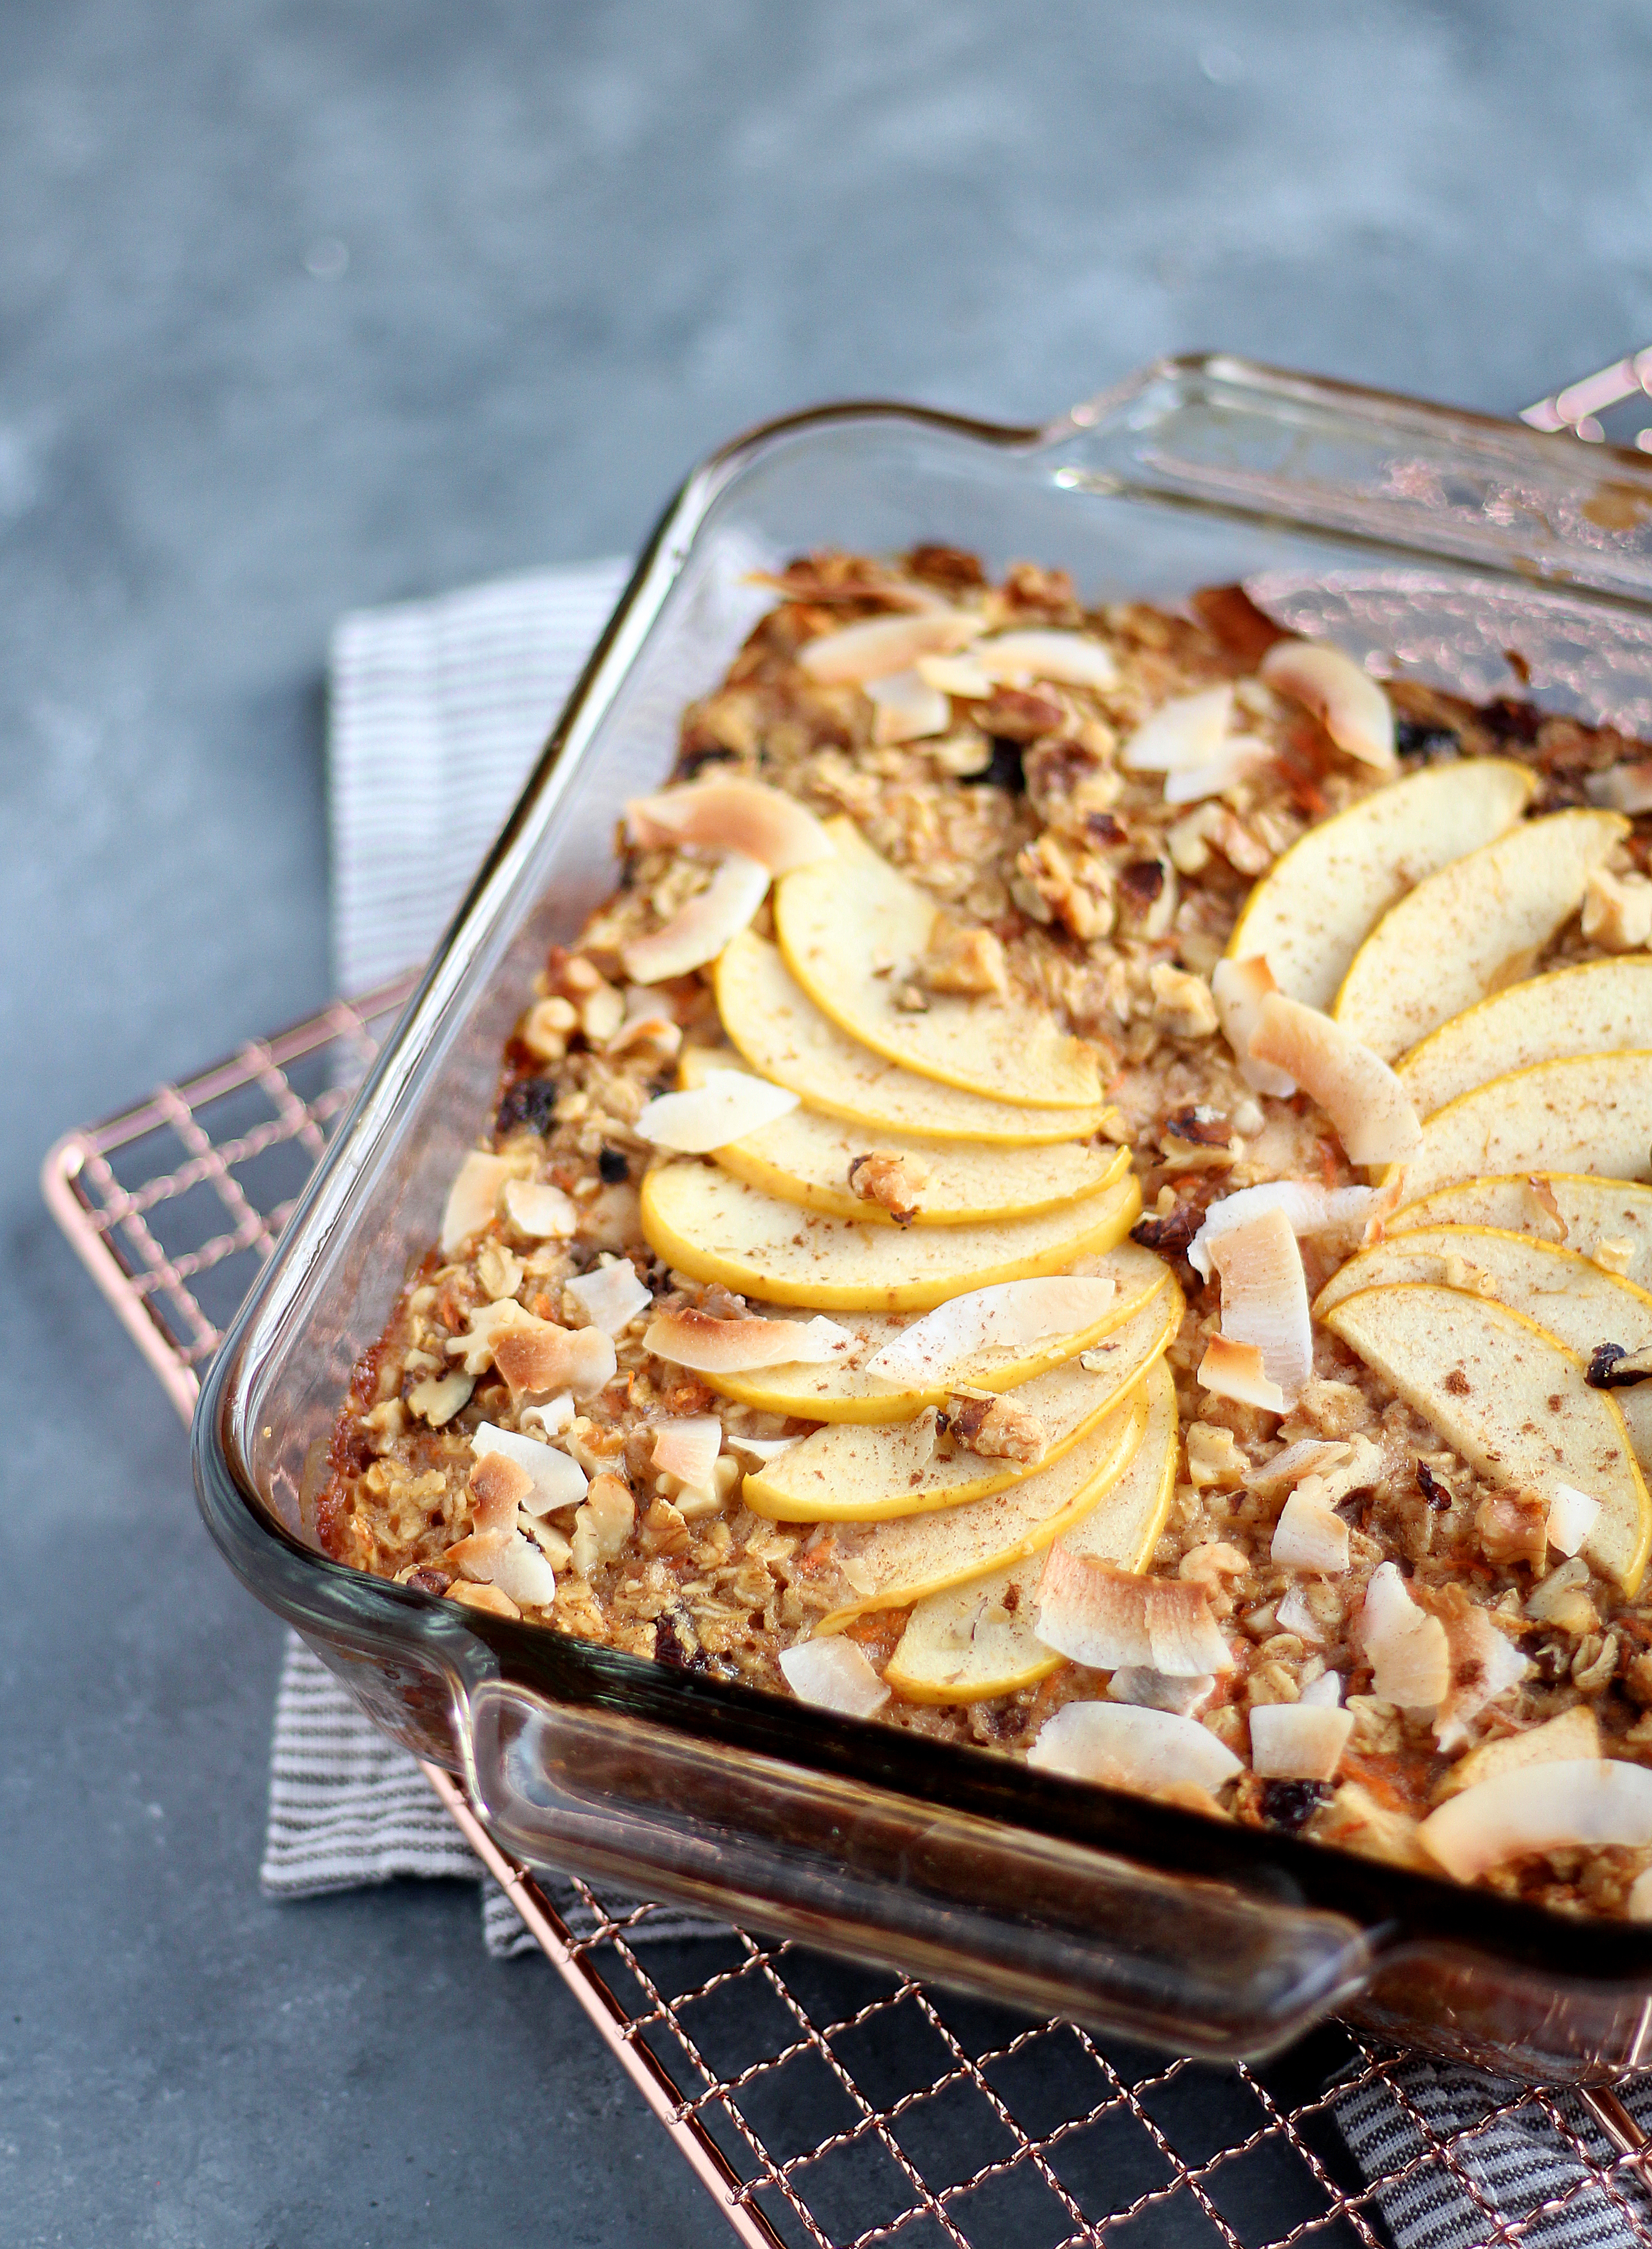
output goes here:
[[[1490, 1226], [1418, 1226], [1376, 1248], [1360, 1250], [1335, 1273], [1315, 1300], [1315, 1318], [1360, 1289], [1389, 1282], [1429, 1282], [1468, 1289], [1524, 1311], [1569, 1352], [1589, 1363], [1603, 1343], [1623, 1352], [1652, 1352], [1652, 1295], [1616, 1273], [1603, 1273], [1578, 1250], [1533, 1241], [1528, 1235]], [[1630, 1428], [1634, 1457], [1652, 1466], [1652, 1383], [1614, 1390]]]

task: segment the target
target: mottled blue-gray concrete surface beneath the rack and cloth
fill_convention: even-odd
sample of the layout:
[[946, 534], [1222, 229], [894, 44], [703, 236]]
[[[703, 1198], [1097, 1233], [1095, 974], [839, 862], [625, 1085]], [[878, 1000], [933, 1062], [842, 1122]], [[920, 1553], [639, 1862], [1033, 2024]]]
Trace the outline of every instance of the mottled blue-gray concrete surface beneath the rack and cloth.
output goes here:
[[724, 2238], [470, 1894], [261, 1900], [276, 1628], [36, 1194], [326, 996], [330, 618], [829, 394], [1515, 407], [1652, 337], [1650, 90], [1634, 0], [4, 0], [0, 2240]]

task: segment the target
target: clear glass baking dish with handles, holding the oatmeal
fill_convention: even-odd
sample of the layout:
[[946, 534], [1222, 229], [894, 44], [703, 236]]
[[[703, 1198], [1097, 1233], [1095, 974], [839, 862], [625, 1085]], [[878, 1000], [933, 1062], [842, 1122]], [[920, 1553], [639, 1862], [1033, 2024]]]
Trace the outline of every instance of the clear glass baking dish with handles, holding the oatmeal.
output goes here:
[[[672, 502], [470, 900], [202, 1388], [196, 1482], [243, 1583], [501, 1846], [1211, 2058], [1358, 2008], [1533, 2078], [1634, 2067], [1652, 1927], [1562, 1918], [1052, 1779], [326, 1561], [312, 1487], [357, 1354], [438, 1228], [544, 947], [614, 882], [769, 596], [818, 547], [1032, 558], [1088, 600], [1243, 580], [1286, 623], [1474, 697], [1652, 731], [1652, 463], [1232, 358], [1047, 427], [820, 407]], [[1508, 650], [1531, 675], [1515, 686]]]

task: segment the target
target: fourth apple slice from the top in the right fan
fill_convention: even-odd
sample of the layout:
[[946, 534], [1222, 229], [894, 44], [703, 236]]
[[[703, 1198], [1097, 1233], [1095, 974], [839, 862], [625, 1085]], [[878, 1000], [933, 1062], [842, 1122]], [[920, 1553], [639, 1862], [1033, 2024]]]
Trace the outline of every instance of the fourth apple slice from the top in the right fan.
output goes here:
[[1400, 1203], [1459, 1178], [1589, 1172], [1634, 1178], [1652, 1158], [1652, 1053], [1569, 1055], [1459, 1093], [1382, 1174]]

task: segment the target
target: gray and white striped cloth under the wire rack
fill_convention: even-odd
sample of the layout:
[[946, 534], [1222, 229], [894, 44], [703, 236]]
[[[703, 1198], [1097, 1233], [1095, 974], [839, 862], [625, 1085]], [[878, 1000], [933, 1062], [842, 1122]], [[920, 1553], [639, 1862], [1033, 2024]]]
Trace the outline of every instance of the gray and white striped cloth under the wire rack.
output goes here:
[[[328, 744], [339, 990], [369, 990], [436, 942], [625, 576], [623, 560], [535, 571], [339, 623]], [[301, 1898], [396, 1876], [481, 1878], [488, 1950], [533, 1950], [416, 1763], [292, 1637], [276, 1698], [263, 1887]], [[575, 1930], [589, 1930], [571, 1885], [555, 1903]], [[717, 1934], [717, 1923], [661, 1909], [634, 1934]], [[1373, 2080], [1344, 2094], [1335, 2114], [1367, 2175], [1396, 2182], [1378, 2202], [1398, 2249], [1501, 2240], [1544, 2206], [1531, 2233], [1544, 2249], [1605, 2249], [1652, 2220], [1632, 2177], [1621, 2173], [1612, 2193], [1594, 2184], [1544, 2103], [1501, 2116], [1517, 2085], [1420, 2056], [1391, 2076], [1398, 2098]], [[1652, 2128], [1652, 2080], [1625, 2098]], [[1553, 2096], [1553, 2114], [1609, 2164], [1576, 2096]], [[1447, 2139], [1468, 2186], [1438, 2157]]]

